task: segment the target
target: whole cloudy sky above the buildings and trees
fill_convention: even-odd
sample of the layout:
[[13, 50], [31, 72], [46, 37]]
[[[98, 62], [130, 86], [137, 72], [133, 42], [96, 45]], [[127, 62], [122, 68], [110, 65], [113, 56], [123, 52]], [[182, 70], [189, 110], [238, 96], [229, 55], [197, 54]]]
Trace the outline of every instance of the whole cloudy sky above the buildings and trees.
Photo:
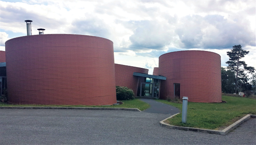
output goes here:
[[255, 0], [2, 0], [0, 50], [5, 42], [32, 35], [69, 33], [100, 36], [114, 43], [115, 63], [158, 67], [158, 57], [180, 50], [207, 50], [221, 55], [241, 45], [244, 61], [256, 68]]

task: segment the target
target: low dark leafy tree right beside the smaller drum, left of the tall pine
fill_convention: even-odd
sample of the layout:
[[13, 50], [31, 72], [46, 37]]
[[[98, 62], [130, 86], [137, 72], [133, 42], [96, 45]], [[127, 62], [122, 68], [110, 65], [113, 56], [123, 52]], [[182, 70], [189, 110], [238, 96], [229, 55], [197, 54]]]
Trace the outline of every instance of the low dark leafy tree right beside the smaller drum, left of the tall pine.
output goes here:
[[221, 92], [234, 93], [236, 75], [231, 70], [221, 67]]

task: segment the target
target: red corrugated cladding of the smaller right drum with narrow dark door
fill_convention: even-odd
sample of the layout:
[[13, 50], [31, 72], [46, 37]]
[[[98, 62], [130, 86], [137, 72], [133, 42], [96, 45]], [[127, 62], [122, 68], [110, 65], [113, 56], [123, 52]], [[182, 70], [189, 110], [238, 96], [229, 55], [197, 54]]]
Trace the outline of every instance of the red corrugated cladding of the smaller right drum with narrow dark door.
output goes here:
[[190, 102], [221, 102], [221, 56], [217, 53], [186, 50], [159, 57], [160, 97], [174, 98], [174, 83], [180, 84], [180, 98]]

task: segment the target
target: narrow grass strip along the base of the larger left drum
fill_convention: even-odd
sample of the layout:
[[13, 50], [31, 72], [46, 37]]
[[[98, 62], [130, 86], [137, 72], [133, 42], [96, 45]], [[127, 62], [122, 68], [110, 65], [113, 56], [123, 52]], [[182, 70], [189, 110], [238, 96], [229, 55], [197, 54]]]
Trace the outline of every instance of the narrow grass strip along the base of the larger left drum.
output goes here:
[[104, 106], [86, 106], [86, 105], [32, 105], [32, 104], [26, 104], [26, 105], [17, 105], [17, 104], [7, 104], [7, 103], [2, 103], [0, 102], [0, 107], [3, 106], [32, 106], [32, 107], [104, 107], [104, 108], [137, 108], [140, 109], [141, 111], [148, 109], [150, 105], [148, 103], [145, 103], [139, 99], [134, 99], [134, 100], [122, 100], [121, 105], [104, 105]]

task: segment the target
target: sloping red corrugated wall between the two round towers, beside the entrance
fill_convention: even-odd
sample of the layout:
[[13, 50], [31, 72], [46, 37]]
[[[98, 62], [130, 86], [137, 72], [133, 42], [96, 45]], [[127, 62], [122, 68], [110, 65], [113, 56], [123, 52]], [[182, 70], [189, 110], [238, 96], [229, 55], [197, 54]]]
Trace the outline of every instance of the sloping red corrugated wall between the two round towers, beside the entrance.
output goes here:
[[115, 64], [116, 72], [116, 86], [127, 86], [137, 95], [137, 86], [139, 77], [134, 76], [133, 73], [148, 74], [148, 69], [140, 67], [131, 67], [128, 65]]

